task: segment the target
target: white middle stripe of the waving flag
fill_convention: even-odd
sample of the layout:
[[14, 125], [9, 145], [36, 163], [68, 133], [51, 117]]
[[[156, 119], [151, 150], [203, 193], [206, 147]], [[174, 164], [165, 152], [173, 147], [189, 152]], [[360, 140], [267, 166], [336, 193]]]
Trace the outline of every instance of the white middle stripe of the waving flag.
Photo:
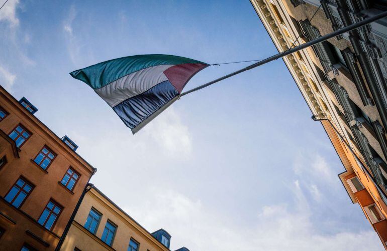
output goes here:
[[152, 66], [126, 75], [109, 85], [94, 90], [111, 107], [115, 107], [122, 101], [139, 95], [158, 83], [164, 82], [167, 77], [163, 71], [174, 65]]

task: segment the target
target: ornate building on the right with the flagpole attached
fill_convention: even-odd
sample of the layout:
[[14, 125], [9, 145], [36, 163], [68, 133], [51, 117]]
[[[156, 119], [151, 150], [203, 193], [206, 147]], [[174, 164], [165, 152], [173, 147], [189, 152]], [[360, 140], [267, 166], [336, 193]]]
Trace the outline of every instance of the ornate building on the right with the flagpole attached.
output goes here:
[[[387, 11], [382, 0], [250, 0], [279, 52]], [[387, 20], [283, 58], [321, 121], [345, 171], [339, 174], [387, 241]]]

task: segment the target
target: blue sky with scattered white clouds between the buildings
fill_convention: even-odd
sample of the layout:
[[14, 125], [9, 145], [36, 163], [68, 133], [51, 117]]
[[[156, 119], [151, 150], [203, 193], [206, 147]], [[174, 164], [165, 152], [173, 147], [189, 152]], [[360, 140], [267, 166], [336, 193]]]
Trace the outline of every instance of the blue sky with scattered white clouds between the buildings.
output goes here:
[[[136, 135], [68, 74], [138, 54], [271, 56], [249, 1], [9, 0], [0, 40], [0, 84], [79, 146], [96, 187], [148, 231], [167, 230], [171, 250], [382, 249], [282, 60], [182, 97]], [[245, 66], [208, 67], [185, 90]]]

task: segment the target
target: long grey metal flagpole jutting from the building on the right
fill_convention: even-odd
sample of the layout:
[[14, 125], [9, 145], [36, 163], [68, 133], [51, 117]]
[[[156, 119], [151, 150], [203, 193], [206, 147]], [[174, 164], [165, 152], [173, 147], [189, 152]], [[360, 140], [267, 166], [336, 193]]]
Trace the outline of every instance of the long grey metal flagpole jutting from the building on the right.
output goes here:
[[360, 22], [358, 22], [358, 23], [355, 23], [355, 24], [346, 26], [346, 27], [344, 27], [344, 28], [342, 28], [342, 29], [339, 29], [339, 30], [337, 30], [337, 31], [334, 31], [334, 32], [332, 32], [332, 33], [330, 33], [330, 34], [326, 34], [326, 35], [324, 35], [324, 36], [322, 36], [322, 37], [320, 37], [320, 38], [317, 38], [317, 39], [312, 40], [312, 41], [309, 41], [309, 42], [307, 42], [307, 43], [305, 43], [305, 44], [296, 46], [296, 47], [294, 47], [294, 48], [292, 48], [292, 49], [289, 49], [289, 50], [287, 50], [287, 51], [278, 53], [278, 54], [273, 55], [273, 56], [271, 56], [271, 57], [268, 57], [268, 58], [266, 58], [266, 59], [264, 59], [264, 60], [262, 60], [262, 61], [259, 61], [259, 62], [255, 63], [255, 64], [252, 64], [252, 65], [250, 65], [250, 66], [248, 66], [248, 67], [245, 67], [245, 68], [243, 68], [243, 69], [241, 69], [241, 70], [238, 70], [238, 71], [236, 71], [236, 72], [227, 74], [227, 75], [225, 75], [225, 76], [223, 76], [223, 77], [221, 77], [221, 78], [218, 78], [218, 79], [213, 80], [213, 81], [211, 81], [211, 82], [208, 82], [208, 83], [206, 83], [206, 84], [200, 85], [200, 86], [198, 86], [198, 87], [196, 87], [196, 88], [193, 88], [193, 89], [191, 89], [191, 90], [188, 90], [188, 91], [186, 91], [186, 92], [183, 92], [183, 93], [180, 94], [180, 97], [181, 97], [181, 96], [184, 96], [184, 95], [187, 95], [187, 94], [189, 94], [189, 93], [191, 93], [191, 92], [195, 92], [195, 91], [198, 91], [198, 90], [200, 90], [200, 89], [203, 89], [203, 88], [205, 88], [205, 87], [207, 87], [207, 86], [210, 86], [210, 85], [212, 85], [212, 84], [215, 84], [215, 83], [217, 83], [217, 82], [219, 82], [219, 81], [222, 81], [222, 80], [224, 80], [224, 79], [227, 79], [227, 78], [230, 78], [230, 77], [232, 77], [232, 76], [235, 76], [235, 75], [237, 75], [237, 74], [239, 74], [239, 73], [242, 73], [242, 72], [251, 70], [251, 69], [253, 69], [253, 68], [255, 68], [255, 67], [264, 65], [264, 64], [269, 63], [269, 62], [271, 62], [271, 61], [274, 61], [274, 60], [276, 60], [276, 59], [283, 58], [283, 57], [285, 57], [285, 56], [287, 56], [287, 55], [289, 55], [289, 54], [292, 54], [292, 53], [301, 51], [301, 50], [303, 50], [303, 49], [305, 49], [305, 48], [314, 46], [314, 45], [316, 45], [316, 44], [318, 44], [318, 43], [321, 43], [321, 42], [324, 42], [324, 41], [326, 41], [326, 40], [328, 40], [328, 39], [331, 39], [331, 38], [333, 38], [333, 37], [339, 36], [339, 35], [341, 35], [341, 34], [343, 34], [343, 33], [352, 31], [352, 30], [357, 29], [357, 28], [359, 28], [359, 27], [362, 27], [362, 26], [364, 26], [364, 25], [368, 25], [368, 24], [370, 24], [370, 23], [372, 23], [372, 22], [374, 22], [374, 21], [376, 21], [376, 20], [382, 19], [382, 18], [384, 18], [384, 17], [387, 17], [387, 11], [382, 12], [382, 13], [379, 13], [379, 14], [377, 14], [377, 15], [371, 17], [371, 18], [364, 19], [364, 20], [362, 20], [362, 21], [360, 21]]

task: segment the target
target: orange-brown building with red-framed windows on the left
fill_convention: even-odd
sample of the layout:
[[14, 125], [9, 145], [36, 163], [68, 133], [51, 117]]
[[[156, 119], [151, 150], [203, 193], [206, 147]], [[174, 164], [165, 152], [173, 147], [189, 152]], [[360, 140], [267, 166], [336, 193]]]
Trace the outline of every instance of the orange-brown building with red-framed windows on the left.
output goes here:
[[0, 86], [0, 250], [55, 250], [96, 171], [37, 111]]

